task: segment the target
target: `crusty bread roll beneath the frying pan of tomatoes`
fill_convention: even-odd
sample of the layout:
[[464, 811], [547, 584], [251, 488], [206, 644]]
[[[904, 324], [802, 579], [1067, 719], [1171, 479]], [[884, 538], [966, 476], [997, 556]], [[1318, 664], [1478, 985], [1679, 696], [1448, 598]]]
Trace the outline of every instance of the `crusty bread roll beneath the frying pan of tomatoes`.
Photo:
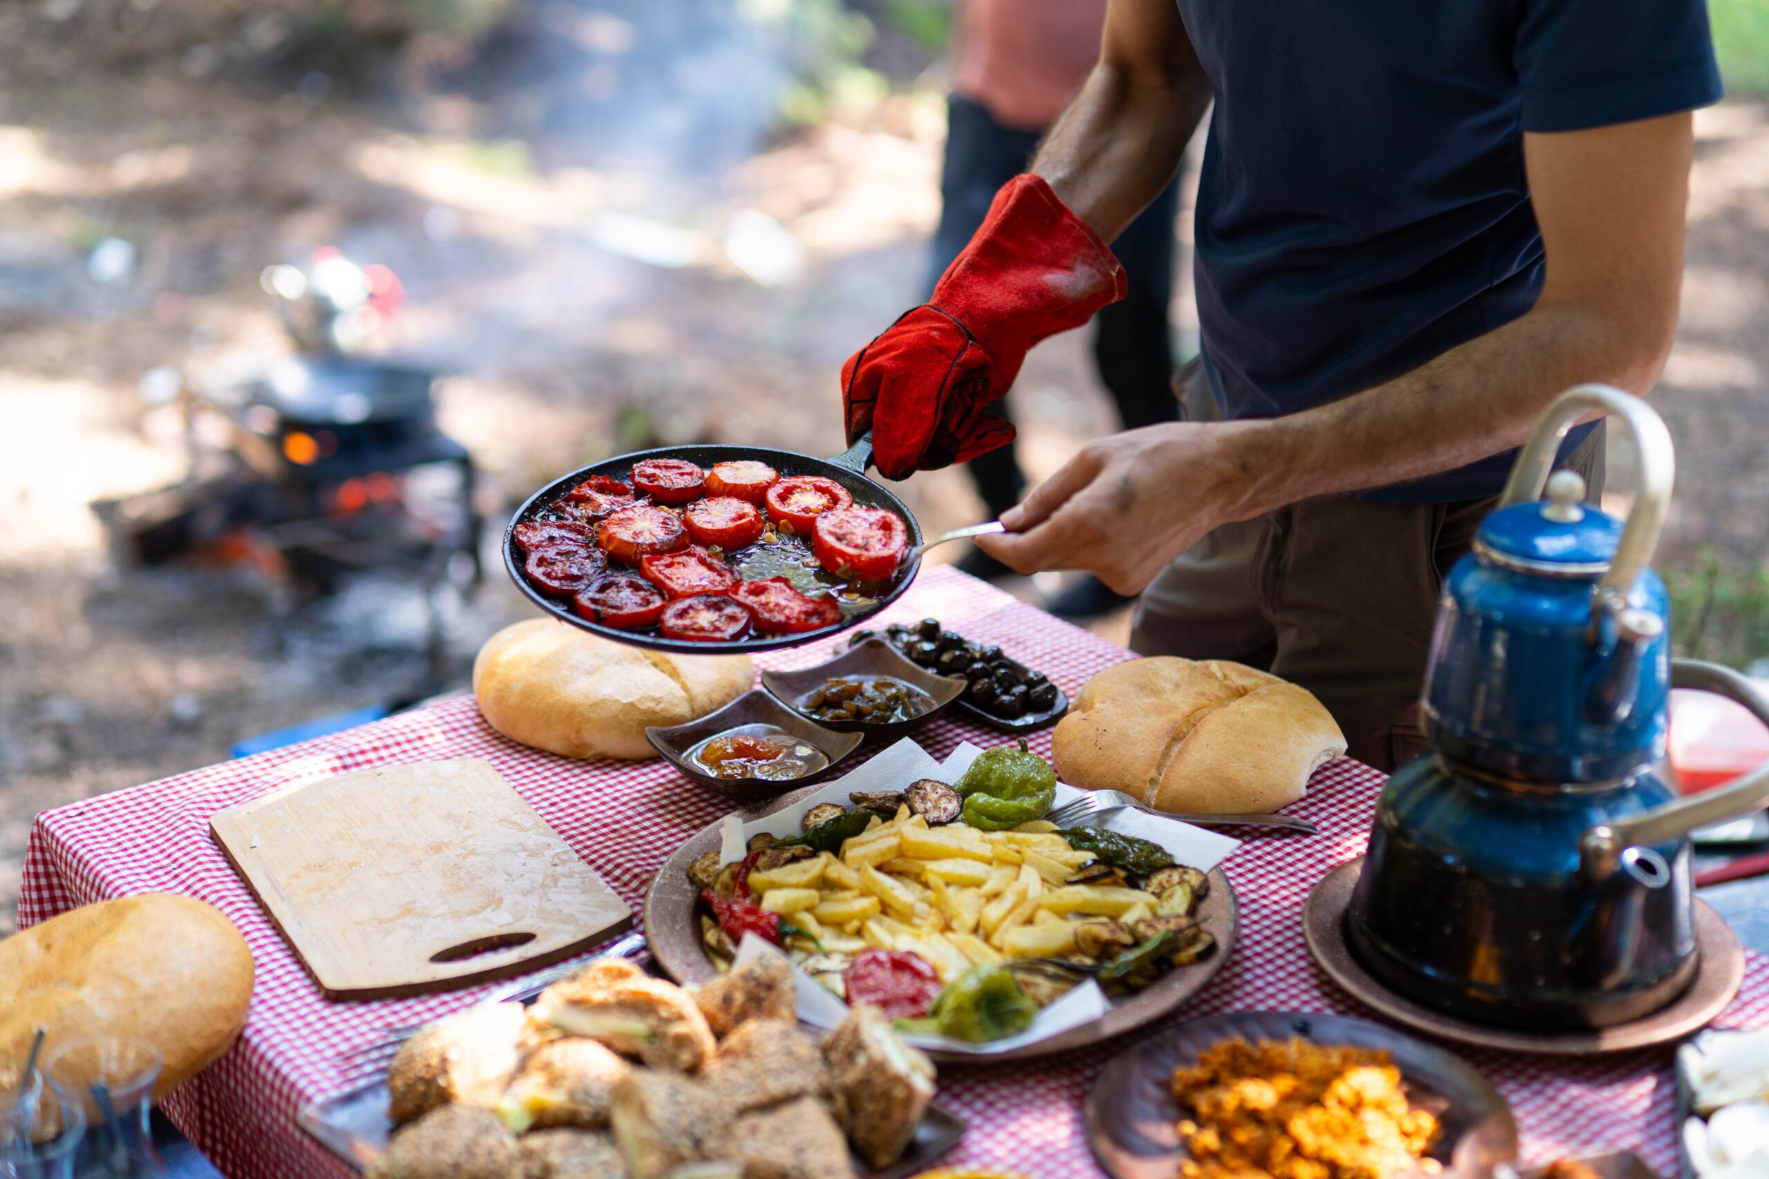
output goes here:
[[561, 757], [656, 757], [651, 725], [686, 725], [750, 689], [748, 656], [672, 656], [531, 619], [479, 647], [472, 691], [486, 723]]

